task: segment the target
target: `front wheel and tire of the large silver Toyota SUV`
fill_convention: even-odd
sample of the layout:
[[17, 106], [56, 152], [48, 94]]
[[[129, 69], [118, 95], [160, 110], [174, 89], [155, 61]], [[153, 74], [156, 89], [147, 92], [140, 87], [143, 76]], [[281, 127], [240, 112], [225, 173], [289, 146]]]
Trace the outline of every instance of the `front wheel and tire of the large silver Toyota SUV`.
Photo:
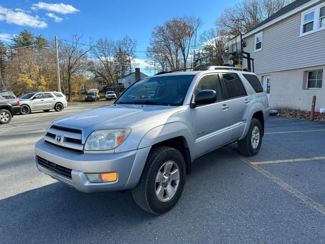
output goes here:
[[143, 210], [155, 215], [164, 214], [181, 197], [185, 178], [186, 167], [181, 153], [172, 147], [155, 147], [147, 158], [138, 185], [132, 190], [133, 198]]

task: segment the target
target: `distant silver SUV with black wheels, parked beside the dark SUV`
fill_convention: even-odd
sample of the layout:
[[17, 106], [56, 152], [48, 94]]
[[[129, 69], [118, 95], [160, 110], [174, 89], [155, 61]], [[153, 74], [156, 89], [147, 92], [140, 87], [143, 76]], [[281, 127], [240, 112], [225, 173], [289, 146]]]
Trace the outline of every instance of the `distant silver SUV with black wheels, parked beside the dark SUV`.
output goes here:
[[32, 111], [48, 112], [51, 109], [59, 112], [68, 106], [67, 98], [59, 92], [38, 92], [27, 93], [19, 98], [21, 114], [28, 114]]

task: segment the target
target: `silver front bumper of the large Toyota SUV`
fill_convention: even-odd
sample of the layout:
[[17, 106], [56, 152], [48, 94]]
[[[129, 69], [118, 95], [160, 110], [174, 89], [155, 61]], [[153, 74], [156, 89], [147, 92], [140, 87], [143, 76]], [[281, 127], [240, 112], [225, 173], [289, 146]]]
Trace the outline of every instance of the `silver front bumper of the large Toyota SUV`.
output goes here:
[[[134, 188], [140, 179], [150, 147], [118, 154], [77, 154], [48, 145], [44, 139], [35, 145], [37, 168], [81, 192], [120, 191]], [[53, 164], [72, 169], [71, 178], [38, 162], [41, 157]], [[90, 182], [85, 173], [117, 172], [114, 182]]]

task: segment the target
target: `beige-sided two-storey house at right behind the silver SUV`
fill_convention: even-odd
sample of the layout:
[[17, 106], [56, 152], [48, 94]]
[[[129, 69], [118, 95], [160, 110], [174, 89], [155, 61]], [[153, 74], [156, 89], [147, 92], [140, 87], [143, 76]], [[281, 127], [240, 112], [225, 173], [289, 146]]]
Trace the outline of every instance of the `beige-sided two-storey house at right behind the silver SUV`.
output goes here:
[[324, 0], [290, 3], [242, 38], [272, 108], [310, 111], [313, 96], [325, 107]]

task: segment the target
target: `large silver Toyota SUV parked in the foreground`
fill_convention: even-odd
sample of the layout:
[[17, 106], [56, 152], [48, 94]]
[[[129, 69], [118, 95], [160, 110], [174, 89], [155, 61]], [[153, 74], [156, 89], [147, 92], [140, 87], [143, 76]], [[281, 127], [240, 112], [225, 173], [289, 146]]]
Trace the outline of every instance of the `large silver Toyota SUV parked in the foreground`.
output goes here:
[[36, 165], [82, 192], [132, 189], [142, 209], [163, 214], [181, 197], [194, 159], [235, 141], [242, 154], [257, 154], [268, 116], [251, 72], [159, 74], [114, 104], [54, 120], [35, 145]]

